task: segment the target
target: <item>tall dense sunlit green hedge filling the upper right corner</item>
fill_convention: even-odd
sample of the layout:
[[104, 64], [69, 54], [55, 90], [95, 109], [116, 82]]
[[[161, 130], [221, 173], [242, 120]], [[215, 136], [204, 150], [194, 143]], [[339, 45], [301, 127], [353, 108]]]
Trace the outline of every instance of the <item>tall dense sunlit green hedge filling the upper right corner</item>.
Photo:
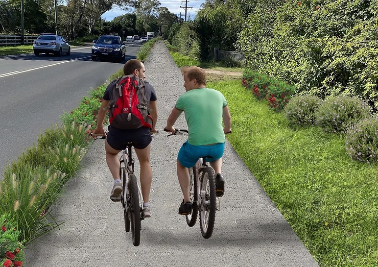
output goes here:
[[288, 81], [296, 93], [354, 95], [377, 110], [376, 10], [377, 1], [257, 0], [237, 47], [249, 68]]

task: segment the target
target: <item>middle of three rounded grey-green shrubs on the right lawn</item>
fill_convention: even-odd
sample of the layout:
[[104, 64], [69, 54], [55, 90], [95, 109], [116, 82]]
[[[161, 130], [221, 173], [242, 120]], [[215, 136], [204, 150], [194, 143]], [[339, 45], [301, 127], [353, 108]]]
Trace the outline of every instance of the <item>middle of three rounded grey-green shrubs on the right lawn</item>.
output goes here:
[[355, 97], [333, 96], [320, 104], [315, 116], [317, 124], [325, 131], [346, 133], [353, 123], [370, 116], [370, 108]]

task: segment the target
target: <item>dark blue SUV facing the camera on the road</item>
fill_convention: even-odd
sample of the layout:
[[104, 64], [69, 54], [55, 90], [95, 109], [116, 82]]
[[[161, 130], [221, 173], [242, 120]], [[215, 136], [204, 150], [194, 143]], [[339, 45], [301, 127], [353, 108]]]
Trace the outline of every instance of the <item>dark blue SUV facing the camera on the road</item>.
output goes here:
[[126, 46], [122, 43], [121, 37], [115, 35], [101, 35], [98, 40], [93, 41], [92, 60], [97, 58], [112, 58], [121, 62], [126, 57]]

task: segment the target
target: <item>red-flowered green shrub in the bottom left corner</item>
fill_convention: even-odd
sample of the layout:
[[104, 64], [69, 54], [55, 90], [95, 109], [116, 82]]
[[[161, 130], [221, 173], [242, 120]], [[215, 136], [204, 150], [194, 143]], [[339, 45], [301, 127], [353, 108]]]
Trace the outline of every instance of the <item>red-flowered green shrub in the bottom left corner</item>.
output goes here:
[[2, 267], [22, 266], [22, 244], [18, 242], [20, 231], [16, 229], [16, 223], [6, 213], [0, 217], [0, 263]]

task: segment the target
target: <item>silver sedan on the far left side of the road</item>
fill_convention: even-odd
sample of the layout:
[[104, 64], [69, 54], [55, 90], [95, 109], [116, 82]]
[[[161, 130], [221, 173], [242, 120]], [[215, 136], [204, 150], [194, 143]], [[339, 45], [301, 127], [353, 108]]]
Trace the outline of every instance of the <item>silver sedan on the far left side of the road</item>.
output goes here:
[[71, 46], [60, 34], [42, 33], [33, 41], [33, 51], [36, 56], [43, 53], [57, 56], [65, 53], [69, 56], [71, 54]]

